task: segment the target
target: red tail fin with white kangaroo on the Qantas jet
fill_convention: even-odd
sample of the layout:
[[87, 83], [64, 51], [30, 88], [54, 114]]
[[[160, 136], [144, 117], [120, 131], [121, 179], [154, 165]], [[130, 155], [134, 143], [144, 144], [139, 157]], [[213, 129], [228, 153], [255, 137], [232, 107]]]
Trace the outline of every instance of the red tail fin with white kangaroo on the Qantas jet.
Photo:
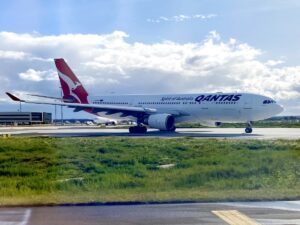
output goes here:
[[88, 103], [88, 93], [81, 82], [75, 76], [64, 59], [54, 59], [58, 72], [60, 84], [64, 93], [64, 99], [70, 99], [69, 102]]

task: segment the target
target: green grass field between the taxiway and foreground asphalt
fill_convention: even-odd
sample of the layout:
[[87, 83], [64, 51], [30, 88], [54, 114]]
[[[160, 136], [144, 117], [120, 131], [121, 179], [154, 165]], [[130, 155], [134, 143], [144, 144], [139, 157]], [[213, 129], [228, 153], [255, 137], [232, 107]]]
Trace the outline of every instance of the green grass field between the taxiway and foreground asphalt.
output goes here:
[[300, 139], [0, 139], [2, 205], [299, 198]]

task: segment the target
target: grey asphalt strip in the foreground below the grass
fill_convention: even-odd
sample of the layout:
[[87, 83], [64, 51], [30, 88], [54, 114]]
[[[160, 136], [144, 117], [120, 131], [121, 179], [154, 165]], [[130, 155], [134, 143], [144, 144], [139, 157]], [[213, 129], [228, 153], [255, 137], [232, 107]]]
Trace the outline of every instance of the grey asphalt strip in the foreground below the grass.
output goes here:
[[300, 201], [0, 208], [0, 225], [108, 224], [300, 224]]

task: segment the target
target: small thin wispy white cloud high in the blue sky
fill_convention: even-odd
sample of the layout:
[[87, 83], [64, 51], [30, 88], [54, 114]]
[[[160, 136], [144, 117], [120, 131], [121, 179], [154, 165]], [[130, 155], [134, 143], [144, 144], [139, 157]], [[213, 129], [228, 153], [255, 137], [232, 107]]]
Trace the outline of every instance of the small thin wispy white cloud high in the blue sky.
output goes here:
[[189, 21], [189, 20], [207, 20], [216, 17], [216, 14], [195, 14], [195, 15], [177, 15], [177, 16], [160, 16], [158, 18], [148, 18], [147, 22], [150, 23], [160, 23], [160, 22], [183, 22], [183, 21]]

